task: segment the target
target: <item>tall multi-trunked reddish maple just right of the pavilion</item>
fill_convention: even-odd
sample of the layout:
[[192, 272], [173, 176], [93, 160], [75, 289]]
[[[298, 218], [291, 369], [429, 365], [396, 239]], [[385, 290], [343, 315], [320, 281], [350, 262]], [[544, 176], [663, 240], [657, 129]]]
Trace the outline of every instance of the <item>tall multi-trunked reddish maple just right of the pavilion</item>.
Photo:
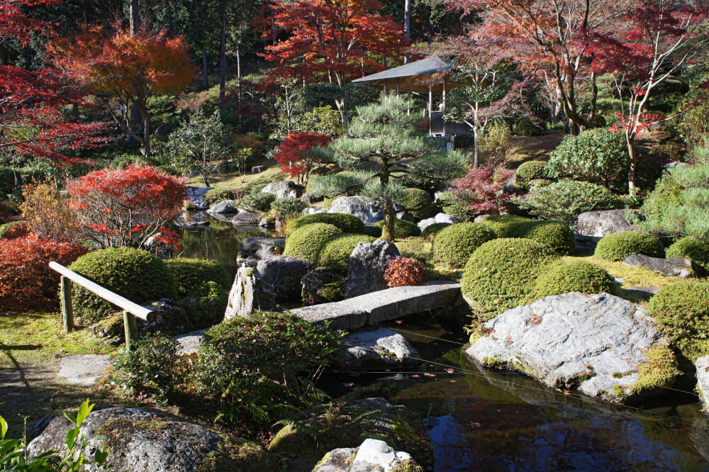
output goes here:
[[[515, 61], [553, 91], [554, 115], [563, 113], [571, 131], [588, 128], [596, 115], [596, 74], [584, 38], [622, 15], [632, 0], [446, 0], [452, 9], [479, 11], [483, 22], [472, 30], [487, 47], [513, 53]], [[579, 107], [581, 82], [591, 86], [588, 113]]]

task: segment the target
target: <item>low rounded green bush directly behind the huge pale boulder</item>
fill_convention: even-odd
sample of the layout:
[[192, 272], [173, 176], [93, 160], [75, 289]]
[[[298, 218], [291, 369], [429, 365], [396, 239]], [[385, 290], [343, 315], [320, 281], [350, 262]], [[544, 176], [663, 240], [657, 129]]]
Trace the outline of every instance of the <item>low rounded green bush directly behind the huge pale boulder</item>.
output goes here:
[[569, 292], [610, 293], [614, 282], [605, 269], [589, 262], [553, 262], [537, 277], [529, 301]]

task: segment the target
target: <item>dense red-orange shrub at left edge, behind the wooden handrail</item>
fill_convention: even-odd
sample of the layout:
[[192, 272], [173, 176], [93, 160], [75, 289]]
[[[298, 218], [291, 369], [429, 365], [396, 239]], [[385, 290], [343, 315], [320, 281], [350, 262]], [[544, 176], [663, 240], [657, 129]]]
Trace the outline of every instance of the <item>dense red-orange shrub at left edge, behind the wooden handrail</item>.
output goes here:
[[68, 266], [89, 249], [35, 235], [0, 239], [0, 307], [6, 310], [55, 308], [59, 274], [50, 261]]

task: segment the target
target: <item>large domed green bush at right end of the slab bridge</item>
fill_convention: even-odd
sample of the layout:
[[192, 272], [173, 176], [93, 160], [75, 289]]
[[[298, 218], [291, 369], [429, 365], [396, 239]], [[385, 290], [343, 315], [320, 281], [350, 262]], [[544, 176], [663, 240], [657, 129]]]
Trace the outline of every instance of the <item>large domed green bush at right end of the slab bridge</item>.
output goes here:
[[465, 264], [461, 290], [474, 314], [489, 320], [523, 305], [540, 268], [558, 255], [524, 238], [501, 238], [481, 245]]

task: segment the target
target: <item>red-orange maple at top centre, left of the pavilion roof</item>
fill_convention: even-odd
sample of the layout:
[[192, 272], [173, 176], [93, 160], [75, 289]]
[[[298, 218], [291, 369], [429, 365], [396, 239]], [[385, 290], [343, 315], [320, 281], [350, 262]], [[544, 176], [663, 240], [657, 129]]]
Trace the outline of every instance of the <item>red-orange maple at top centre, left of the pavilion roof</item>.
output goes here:
[[264, 36], [288, 37], [266, 47], [274, 74], [337, 83], [337, 108], [349, 120], [345, 84], [354, 76], [381, 70], [382, 58], [401, 57], [408, 46], [401, 25], [381, 16], [377, 0], [276, 0]]

